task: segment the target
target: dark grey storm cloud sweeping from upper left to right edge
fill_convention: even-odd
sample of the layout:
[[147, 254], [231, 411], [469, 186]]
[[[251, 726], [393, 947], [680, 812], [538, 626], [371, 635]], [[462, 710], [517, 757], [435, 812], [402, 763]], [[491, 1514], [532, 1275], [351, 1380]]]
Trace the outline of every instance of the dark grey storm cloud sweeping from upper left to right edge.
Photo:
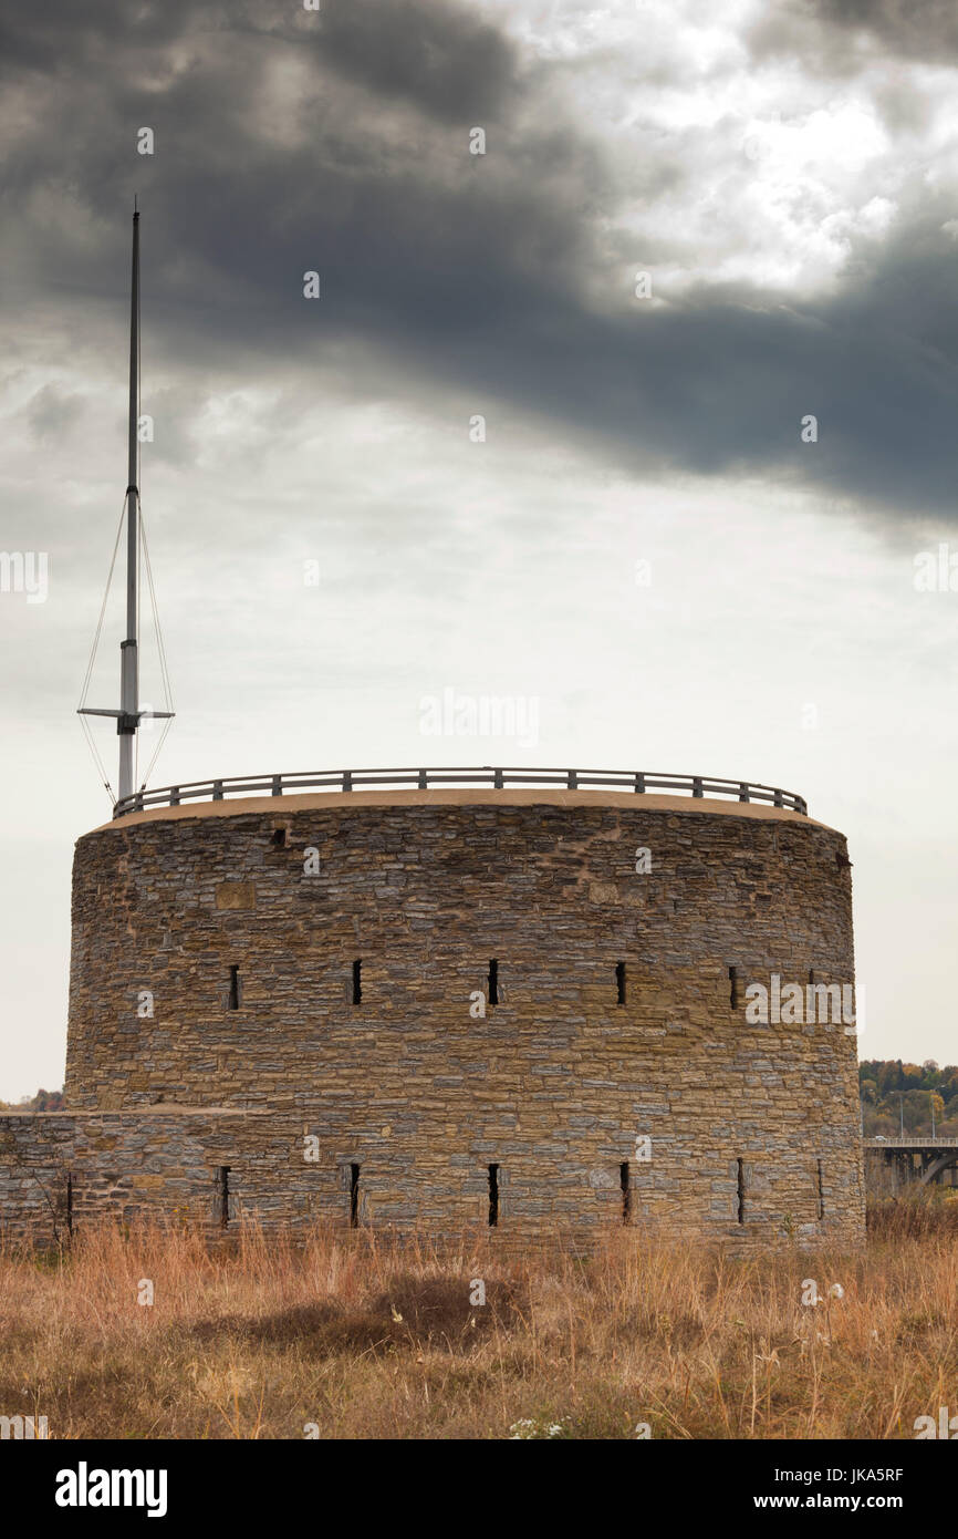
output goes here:
[[[357, 342], [411, 394], [474, 396], [491, 434], [514, 402], [606, 460], [952, 512], [950, 209], [916, 214], [826, 300], [703, 286], [643, 309], [610, 255], [629, 248], [609, 235], [615, 174], [544, 72], [447, 5], [323, 5], [321, 23], [111, 5], [95, 29], [62, 3], [26, 12], [11, 42], [35, 119], [8, 151], [3, 237], [22, 292], [121, 294], [137, 186], [152, 326], [181, 365], [243, 383]], [[157, 154], [140, 160], [143, 123]], [[474, 123], [486, 157], [467, 154]], [[57, 212], [60, 188], [89, 220]], [[809, 412], [817, 445], [800, 442]]]

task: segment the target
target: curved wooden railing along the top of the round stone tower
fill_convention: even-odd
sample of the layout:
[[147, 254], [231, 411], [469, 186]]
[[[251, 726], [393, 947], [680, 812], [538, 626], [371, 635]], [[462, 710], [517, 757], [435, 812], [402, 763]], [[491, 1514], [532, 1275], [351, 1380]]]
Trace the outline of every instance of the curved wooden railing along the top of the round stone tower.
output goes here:
[[369, 786], [380, 790], [414, 788], [429, 791], [434, 786], [492, 786], [504, 791], [509, 786], [561, 786], [567, 791], [600, 788], [606, 791], [666, 791], [669, 794], [718, 796], [737, 802], [769, 802], [793, 813], [807, 816], [807, 805], [793, 791], [780, 791], [773, 785], [755, 785], [750, 780], [717, 780], [701, 774], [663, 774], [658, 771], [624, 770], [498, 770], [483, 765], [478, 770], [318, 770], [308, 774], [261, 774], [240, 776], [232, 780], [191, 780], [188, 785], [165, 785], [160, 790], [140, 790], [126, 796], [114, 806], [114, 817], [128, 813], [145, 813], [151, 806], [181, 806], [183, 802], [221, 802], [228, 796], [291, 796], [297, 791], [361, 791]]

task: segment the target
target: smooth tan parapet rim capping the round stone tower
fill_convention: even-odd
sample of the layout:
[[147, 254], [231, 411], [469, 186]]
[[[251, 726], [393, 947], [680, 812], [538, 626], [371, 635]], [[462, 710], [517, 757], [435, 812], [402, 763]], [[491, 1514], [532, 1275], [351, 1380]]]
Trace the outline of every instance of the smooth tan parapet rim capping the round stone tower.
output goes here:
[[780, 823], [801, 823], [804, 828], [824, 828], [838, 833], [827, 823], [820, 823], [806, 813], [787, 806], [772, 806], [764, 802], [737, 802], [707, 796], [667, 796], [655, 791], [564, 791], [521, 788], [494, 790], [492, 786], [447, 786], [435, 791], [306, 791], [283, 796], [235, 796], [221, 802], [197, 800], [180, 806], [154, 806], [145, 813], [126, 813], [123, 817], [100, 823], [91, 833], [121, 831], [137, 823], [178, 822], [189, 817], [241, 817], [249, 813], [312, 813], [324, 806], [627, 806], [647, 813], [703, 813], [720, 817], [760, 817]]

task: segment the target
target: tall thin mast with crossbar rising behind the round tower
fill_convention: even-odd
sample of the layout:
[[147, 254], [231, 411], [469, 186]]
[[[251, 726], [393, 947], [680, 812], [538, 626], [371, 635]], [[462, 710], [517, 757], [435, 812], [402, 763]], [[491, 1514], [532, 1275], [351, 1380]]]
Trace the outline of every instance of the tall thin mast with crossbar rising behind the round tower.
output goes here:
[[129, 286], [129, 437], [126, 462], [126, 639], [120, 642], [120, 709], [80, 706], [80, 716], [114, 716], [120, 737], [117, 799], [134, 794], [137, 731], [145, 716], [171, 717], [172, 711], [140, 709], [140, 212], [134, 199], [132, 277]]

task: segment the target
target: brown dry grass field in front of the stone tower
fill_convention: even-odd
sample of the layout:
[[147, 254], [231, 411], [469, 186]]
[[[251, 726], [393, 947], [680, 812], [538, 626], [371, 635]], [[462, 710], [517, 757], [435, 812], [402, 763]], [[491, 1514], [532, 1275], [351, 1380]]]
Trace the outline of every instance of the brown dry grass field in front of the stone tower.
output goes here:
[[[809, 1277], [843, 1297], [804, 1307]], [[0, 1253], [0, 1414], [52, 1437], [912, 1437], [958, 1410], [956, 1300], [941, 1200], [883, 1205], [864, 1254], [747, 1260], [635, 1231], [581, 1257], [103, 1227]]]

